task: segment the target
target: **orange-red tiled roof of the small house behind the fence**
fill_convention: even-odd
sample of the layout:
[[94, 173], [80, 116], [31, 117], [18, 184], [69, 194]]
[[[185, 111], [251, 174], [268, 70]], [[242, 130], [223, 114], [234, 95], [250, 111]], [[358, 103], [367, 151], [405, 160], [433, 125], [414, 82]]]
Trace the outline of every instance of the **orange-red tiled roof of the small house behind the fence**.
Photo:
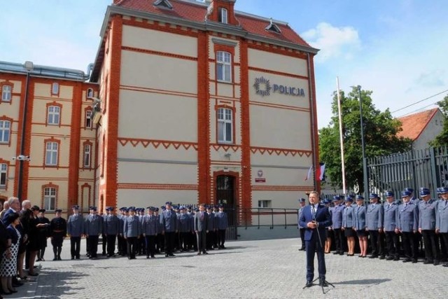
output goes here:
[[398, 137], [407, 137], [413, 141], [419, 138], [437, 110], [438, 108], [434, 108], [398, 118], [402, 123], [402, 131], [398, 132]]

